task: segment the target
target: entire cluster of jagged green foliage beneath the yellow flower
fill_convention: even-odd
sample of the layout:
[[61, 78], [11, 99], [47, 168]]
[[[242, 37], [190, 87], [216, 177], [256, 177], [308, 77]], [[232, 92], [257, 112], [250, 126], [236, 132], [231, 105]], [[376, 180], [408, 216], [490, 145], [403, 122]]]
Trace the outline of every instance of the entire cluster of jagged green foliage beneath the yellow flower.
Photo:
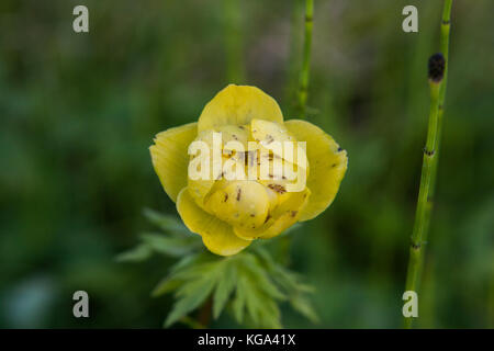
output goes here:
[[[232, 315], [242, 326], [252, 328], [281, 328], [280, 302], [291, 306], [313, 322], [318, 320], [310, 303], [308, 285], [301, 278], [276, 262], [270, 250], [256, 242], [249, 251], [233, 257], [220, 257], [204, 249], [200, 236], [171, 216], [147, 210], [146, 216], [161, 231], [144, 234], [134, 249], [119, 254], [122, 262], [141, 262], [158, 252], [181, 259], [153, 290], [153, 296], [175, 293], [176, 303], [165, 320], [165, 327], [177, 321], [205, 327], [211, 317], [217, 319], [223, 309], [231, 307]], [[290, 235], [300, 225], [283, 233]], [[262, 241], [270, 242], [276, 240]], [[269, 246], [268, 246], [269, 247]], [[201, 320], [188, 315], [204, 305]]]

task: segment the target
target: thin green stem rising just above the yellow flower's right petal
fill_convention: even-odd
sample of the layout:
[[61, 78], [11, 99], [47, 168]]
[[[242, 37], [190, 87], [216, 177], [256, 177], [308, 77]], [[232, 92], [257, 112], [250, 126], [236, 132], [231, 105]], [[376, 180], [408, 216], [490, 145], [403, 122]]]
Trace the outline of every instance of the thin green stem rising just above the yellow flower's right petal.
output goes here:
[[301, 118], [306, 118], [306, 103], [308, 91], [308, 75], [311, 70], [311, 47], [312, 47], [312, 26], [314, 15], [314, 1], [305, 0], [305, 33], [304, 33], [304, 56], [302, 70], [300, 73], [299, 104], [301, 109]]

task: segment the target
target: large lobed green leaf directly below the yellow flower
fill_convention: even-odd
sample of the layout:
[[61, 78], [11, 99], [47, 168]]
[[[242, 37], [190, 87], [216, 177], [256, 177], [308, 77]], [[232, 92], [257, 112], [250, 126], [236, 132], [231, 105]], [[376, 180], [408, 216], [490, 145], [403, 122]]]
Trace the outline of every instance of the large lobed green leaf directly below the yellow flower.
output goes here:
[[267, 251], [242, 252], [231, 258], [210, 253], [186, 256], [154, 290], [153, 295], [175, 291], [176, 304], [165, 326], [197, 309], [209, 296], [217, 319], [229, 303], [238, 324], [281, 328], [279, 303], [289, 301], [300, 314], [316, 322], [307, 286], [293, 272], [276, 263]]

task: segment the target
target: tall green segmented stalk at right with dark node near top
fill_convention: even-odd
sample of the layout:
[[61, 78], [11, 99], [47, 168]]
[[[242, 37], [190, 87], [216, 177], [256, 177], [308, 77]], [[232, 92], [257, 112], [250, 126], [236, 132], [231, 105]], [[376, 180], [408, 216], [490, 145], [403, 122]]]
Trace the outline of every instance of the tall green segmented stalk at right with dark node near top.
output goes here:
[[[427, 131], [427, 141], [424, 148], [424, 161], [418, 192], [417, 211], [415, 215], [412, 244], [409, 248], [406, 291], [417, 292], [424, 262], [423, 244], [427, 240], [427, 231], [433, 210], [433, 196], [436, 185], [438, 150], [441, 139], [444, 103], [448, 72], [449, 32], [452, 0], [445, 0], [441, 20], [440, 49], [445, 59], [444, 76], [439, 81], [429, 80], [430, 112]], [[404, 319], [405, 328], [412, 328], [412, 317]]]

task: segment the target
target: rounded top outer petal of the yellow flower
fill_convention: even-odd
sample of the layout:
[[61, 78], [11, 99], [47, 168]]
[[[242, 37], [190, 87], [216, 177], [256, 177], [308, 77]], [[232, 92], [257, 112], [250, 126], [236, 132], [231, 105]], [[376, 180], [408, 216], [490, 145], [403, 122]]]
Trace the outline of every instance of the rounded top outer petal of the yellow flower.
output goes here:
[[252, 118], [283, 123], [278, 103], [256, 87], [229, 84], [211, 100], [198, 121], [199, 132], [222, 125], [245, 125]]

